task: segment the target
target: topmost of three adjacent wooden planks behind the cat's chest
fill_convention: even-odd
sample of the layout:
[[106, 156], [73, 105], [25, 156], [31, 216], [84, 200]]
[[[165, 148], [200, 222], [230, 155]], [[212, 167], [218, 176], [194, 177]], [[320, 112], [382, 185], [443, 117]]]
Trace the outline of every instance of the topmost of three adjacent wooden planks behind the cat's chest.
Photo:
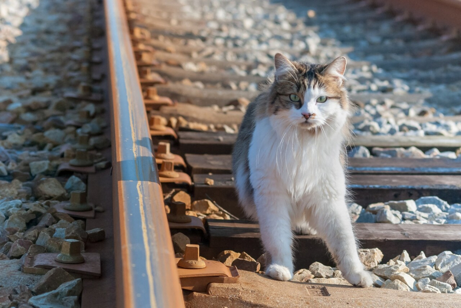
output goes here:
[[[236, 139], [237, 134], [224, 132], [180, 132], [179, 148], [183, 153], [231, 154]], [[423, 151], [431, 148], [438, 148], [440, 151], [454, 151], [461, 147], [461, 136], [355, 136], [351, 144], [369, 149], [414, 146]]]

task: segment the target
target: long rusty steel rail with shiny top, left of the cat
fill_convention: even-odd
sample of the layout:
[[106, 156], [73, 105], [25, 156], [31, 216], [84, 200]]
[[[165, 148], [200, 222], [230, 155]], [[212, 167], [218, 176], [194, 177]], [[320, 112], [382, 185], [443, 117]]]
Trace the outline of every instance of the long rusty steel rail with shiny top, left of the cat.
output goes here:
[[117, 307], [184, 307], [122, 0], [105, 0], [104, 11]]

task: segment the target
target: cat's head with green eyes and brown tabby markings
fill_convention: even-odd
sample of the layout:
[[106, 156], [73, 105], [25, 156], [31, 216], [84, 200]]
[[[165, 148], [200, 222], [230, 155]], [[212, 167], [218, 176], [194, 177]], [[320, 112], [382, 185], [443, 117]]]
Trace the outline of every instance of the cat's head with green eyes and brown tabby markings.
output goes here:
[[351, 110], [343, 84], [346, 58], [324, 65], [291, 62], [276, 54], [275, 67], [269, 116], [306, 130], [343, 126]]

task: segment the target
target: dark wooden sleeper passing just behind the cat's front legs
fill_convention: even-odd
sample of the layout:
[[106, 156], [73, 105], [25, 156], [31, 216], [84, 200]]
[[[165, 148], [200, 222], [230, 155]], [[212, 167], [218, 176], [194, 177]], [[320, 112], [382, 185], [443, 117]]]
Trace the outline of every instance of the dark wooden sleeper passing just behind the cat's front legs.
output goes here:
[[[202, 247], [200, 253], [211, 258], [222, 250], [232, 249], [247, 252], [253, 257], [263, 253], [259, 225], [245, 220], [207, 220], [209, 246]], [[445, 250], [461, 249], [461, 225], [392, 225], [355, 224], [355, 234], [361, 248], [379, 248], [384, 254], [383, 261], [407, 250], [410, 256], [420, 251], [435, 255]], [[316, 236], [296, 235], [296, 268], [309, 268], [313, 262], [333, 266], [323, 242]]]

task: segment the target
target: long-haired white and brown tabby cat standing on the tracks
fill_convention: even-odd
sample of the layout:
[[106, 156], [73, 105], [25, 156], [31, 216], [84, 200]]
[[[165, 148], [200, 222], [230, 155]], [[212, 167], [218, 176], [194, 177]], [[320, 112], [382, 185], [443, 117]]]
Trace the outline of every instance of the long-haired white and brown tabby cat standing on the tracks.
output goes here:
[[296, 229], [317, 232], [343, 277], [371, 287], [346, 206], [353, 113], [344, 87], [346, 58], [322, 65], [276, 54], [274, 61], [273, 78], [247, 107], [232, 157], [240, 204], [260, 224], [266, 275], [292, 278]]

